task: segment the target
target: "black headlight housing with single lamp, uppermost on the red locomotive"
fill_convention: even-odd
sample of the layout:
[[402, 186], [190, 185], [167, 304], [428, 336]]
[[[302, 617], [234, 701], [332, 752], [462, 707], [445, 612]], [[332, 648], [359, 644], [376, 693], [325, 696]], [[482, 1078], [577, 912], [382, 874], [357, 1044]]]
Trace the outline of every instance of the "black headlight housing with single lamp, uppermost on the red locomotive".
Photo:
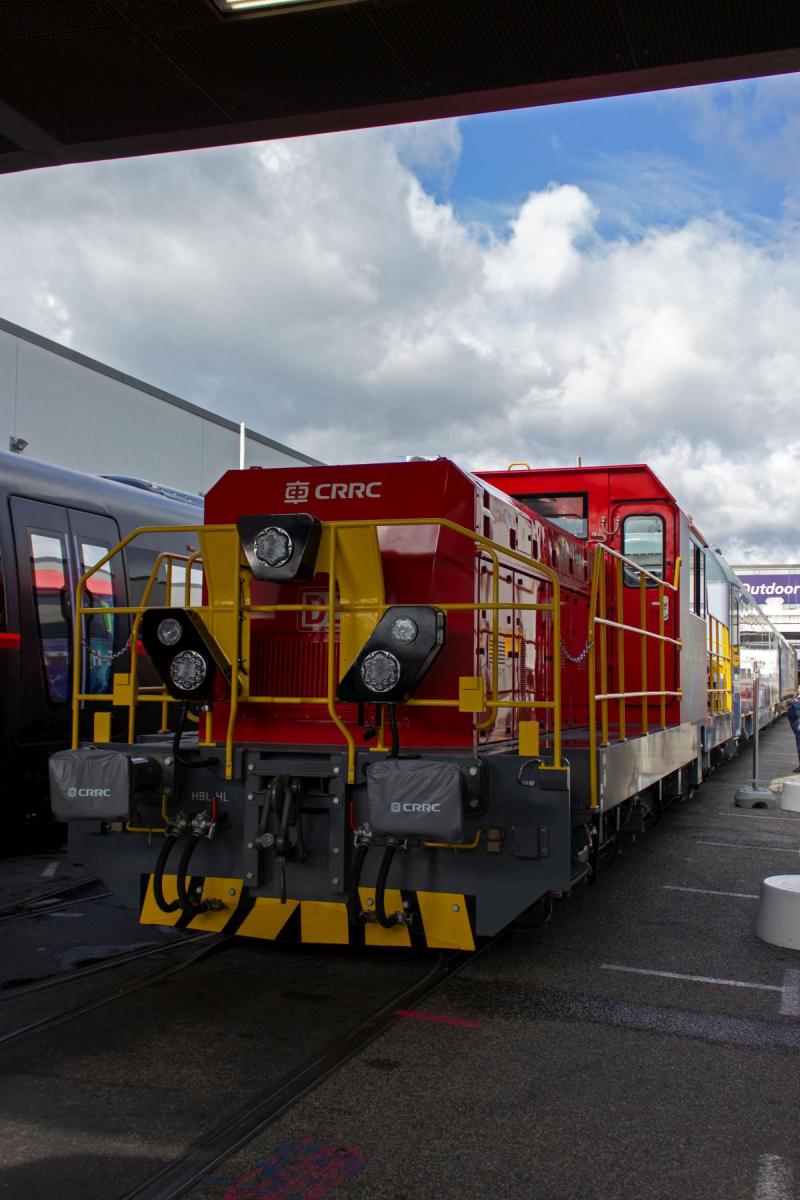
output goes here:
[[323, 527], [309, 512], [240, 517], [236, 530], [254, 580], [307, 583], [314, 577]]

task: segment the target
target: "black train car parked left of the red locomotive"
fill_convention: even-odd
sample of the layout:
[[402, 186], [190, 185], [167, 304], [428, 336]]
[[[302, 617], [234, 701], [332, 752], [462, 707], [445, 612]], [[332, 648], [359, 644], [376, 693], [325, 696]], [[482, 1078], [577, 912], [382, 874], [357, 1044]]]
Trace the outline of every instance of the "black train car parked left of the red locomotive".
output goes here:
[[[47, 761], [71, 737], [78, 578], [132, 529], [191, 526], [201, 517], [199, 497], [132, 484], [0, 451], [0, 854], [49, 827]], [[137, 540], [122, 565], [115, 558], [92, 582], [95, 602], [139, 604], [157, 554], [169, 550], [187, 558], [190, 539]], [[182, 584], [175, 575], [172, 582]], [[162, 604], [166, 587], [162, 578]], [[88, 618], [78, 648], [84, 691], [108, 694], [112, 670], [125, 671], [130, 622], [110, 613]], [[82, 738], [91, 737], [91, 716], [82, 716]]]

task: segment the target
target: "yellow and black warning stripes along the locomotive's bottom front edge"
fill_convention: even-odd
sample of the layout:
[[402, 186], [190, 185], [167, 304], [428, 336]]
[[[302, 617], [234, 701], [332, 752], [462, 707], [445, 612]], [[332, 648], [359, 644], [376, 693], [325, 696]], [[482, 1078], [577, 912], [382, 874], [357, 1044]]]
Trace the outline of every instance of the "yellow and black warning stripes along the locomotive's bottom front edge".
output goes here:
[[[164, 900], [178, 899], [176, 876], [163, 877]], [[237, 934], [241, 937], [261, 937], [271, 942], [311, 942], [325, 946], [397, 946], [427, 947], [440, 950], [475, 949], [475, 898], [455, 892], [401, 892], [386, 889], [386, 911], [395, 912], [405, 905], [411, 914], [410, 925], [384, 929], [377, 922], [353, 926], [348, 920], [344, 901], [287, 900], [253, 896], [241, 880], [215, 876], [193, 876], [188, 884], [191, 895], [201, 900], [221, 900], [224, 908], [217, 912], [163, 912], [156, 904], [152, 875], [142, 877], [143, 925], [176, 925], [180, 929]], [[360, 888], [361, 907], [366, 912], [374, 904], [374, 888]]]

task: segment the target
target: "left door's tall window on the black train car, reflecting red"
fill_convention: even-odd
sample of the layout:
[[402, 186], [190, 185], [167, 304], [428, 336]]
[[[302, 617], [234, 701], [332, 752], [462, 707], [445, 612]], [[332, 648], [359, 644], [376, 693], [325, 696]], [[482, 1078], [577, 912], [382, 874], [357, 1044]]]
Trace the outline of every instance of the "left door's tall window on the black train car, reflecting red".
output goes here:
[[64, 539], [44, 533], [30, 533], [29, 538], [47, 691], [54, 704], [66, 704], [70, 695], [70, 626]]

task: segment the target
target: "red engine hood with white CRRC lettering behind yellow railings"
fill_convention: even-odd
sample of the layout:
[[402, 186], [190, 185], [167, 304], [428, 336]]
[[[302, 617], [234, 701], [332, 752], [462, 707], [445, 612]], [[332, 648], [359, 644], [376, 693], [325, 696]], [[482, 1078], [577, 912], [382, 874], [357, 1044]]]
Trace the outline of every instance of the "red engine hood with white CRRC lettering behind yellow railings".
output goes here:
[[[563, 587], [563, 638], [569, 646], [585, 640], [588, 560], [579, 539], [535, 517], [507, 496], [468, 475], [445, 458], [434, 462], [380, 463], [347, 467], [252, 468], [229, 472], [209, 492], [209, 524], [234, 523], [257, 514], [311, 512], [320, 521], [444, 518], [482, 534], [495, 544], [540, 558], [559, 574]], [[469, 539], [429, 526], [379, 527], [386, 604], [474, 604], [491, 601], [492, 558]], [[543, 602], [551, 584], [522, 564], [501, 560], [500, 598]], [[323, 604], [329, 580], [318, 574], [308, 583], [252, 582], [252, 604]], [[498, 695], [525, 701], [552, 700], [554, 647], [552, 616], [516, 610], [500, 614]], [[445, 647], [415, 698], [458, 697], [461, 677], [493, 679], [492, 612], [447, 614]], [[326, 614], [253, 614], [251, 622], [251, 694], [323, 696], [327, 661]], [[569, 678], [569, 673], [567, 673]], [[585, 680], [585, 668], [584, 668]], [[567, 689], [564, 718], [585, 721], [585, 684]], [[583, 704], [583, 707], [582, 707]], [[215, 736], [227, 721], [216, 706]], [[338, 715], [361, 742], [369, 714], [362, 706], [337, 704]], [[457, 708], [398, 706], [404, 746], [480, 746], [507, 743], [521, 718], [536, 718], [545, 728], [549, 714], [533, 708], [503, 707], [477, 722]], [[477, 726], [477, 727], [476, 727]], [[481, 728], [481, 726], [483, 726]], [[341, 744], [342, 736], [321, 704], [242, 703], [236, 742], [283, 745]]]

